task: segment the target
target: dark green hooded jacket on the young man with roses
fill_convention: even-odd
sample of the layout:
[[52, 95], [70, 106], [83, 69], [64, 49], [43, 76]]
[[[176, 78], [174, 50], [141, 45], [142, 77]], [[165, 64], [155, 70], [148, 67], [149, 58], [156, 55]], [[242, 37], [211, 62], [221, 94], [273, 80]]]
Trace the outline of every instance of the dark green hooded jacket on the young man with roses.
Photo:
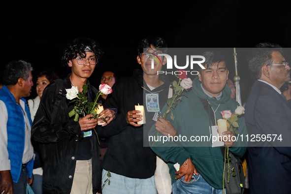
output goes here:
[[[180, 139], [176, 142], [167, 141], [151, 141], [150, 136], [156, 136], [157, 130], [153, 126], [149, 132], [150, 146], [152, 150], [159, 155], [164, 161], [168, 162], [169, 172], [172, 179], [172, 184], [176, 181], [175, 169], [173, 164], [178, 162], [182, 165], [188, 158], [192, 159], [198, 173], [206, 180], [206, 182], [216, 189], [223, 188], [223, 170], [224, 160], [220, 147], [211, 147], [211, 140], [207, 141], [200, 138], [200, 141], [191, 141], [191, 136], [210, 137], [211, 121], [209, 120], [208, 113], [204, 109], [200, 98], [207, 99], [215, 111], [216, 120], [222, 119], [220, 111], [231, 110], [234, 113], [238, 102], [230, 98], [230, 88], [226, 87], [222, 91], [222, 97], [219, 100], [208, 97], [201, 87], [201, 82], [198, 77], [193, 81], [193, 87], [188, 91], [183, 92], [182, 101], [179, 101], [176, 108], [171, 108], [174, 120], [170, 119], [170, 113], [167, 115], [166, 120], [169, 120], [173, 127], [177, 130], [177, 135]], [[162, 109], [162, 115], [167, 110], [168, 106], [165, 105]], [[212, 110], [210, 108], [210, 110]], [[247, 130], [245, 126], [244, 116], [238, 118], [238, 131], [240, 135], [246, 135]], [[159, 133], [163, 138], [163, 135]], [[187, 140], [185, 138], [187, 137]], [[183, 139], [184, 138], [184, 139]], [[186, 141], [185, 141], [186, 140]], [[189, 140], [189, 141], [188, 141]], [[229, 148], [232, 153], [239, 157], [245, 154], [247, 142], [239, 139]]]

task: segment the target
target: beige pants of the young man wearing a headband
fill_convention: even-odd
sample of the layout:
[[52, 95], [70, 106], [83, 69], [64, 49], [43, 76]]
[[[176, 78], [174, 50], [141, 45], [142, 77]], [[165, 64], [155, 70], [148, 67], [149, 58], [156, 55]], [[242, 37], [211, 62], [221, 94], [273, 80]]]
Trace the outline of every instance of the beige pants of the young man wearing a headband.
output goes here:
[[77, 161], [71, 194], [92, 194], [92, 160]]

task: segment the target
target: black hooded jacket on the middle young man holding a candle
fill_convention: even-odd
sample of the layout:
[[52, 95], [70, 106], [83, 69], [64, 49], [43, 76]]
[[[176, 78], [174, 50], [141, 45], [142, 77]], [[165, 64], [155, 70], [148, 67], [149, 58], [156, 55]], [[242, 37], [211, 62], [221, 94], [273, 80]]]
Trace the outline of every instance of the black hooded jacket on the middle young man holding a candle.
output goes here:
[[[147, 112], [145, 95], [159, 94], [162, 109], [168, 97], [169, 80], [165, 76], [160, 79], [164, 84], [151, 91], [143, 79], [143, 71], [135, 69], [133, 76], [120, 78], [113, 85], [104, 106], [117, 108], [118, 114], [109, 125], [98, 128], [99, 136], [110, 136], [103, 169], [129, 178], [145, 179], [154, 175], [156, 154], [148, 145], [147, 135], [160, 111]], [[144, 105], [146, 124], [133, 127], [127, 123], [126, 115], [138, 104]]]

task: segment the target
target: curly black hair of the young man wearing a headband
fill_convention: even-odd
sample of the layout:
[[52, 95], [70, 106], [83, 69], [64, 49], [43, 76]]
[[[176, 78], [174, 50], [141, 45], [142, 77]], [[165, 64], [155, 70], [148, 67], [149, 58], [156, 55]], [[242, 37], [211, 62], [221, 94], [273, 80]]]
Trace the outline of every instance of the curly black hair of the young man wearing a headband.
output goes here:
[[62, 57], [64, 66], [67, 66], [69, 60], [76, 58], [77, 54], [79, 55], [85, 54], [86, 57], [85, 53], [86, 47], [89, 47], [93, 51], [98, 62], [101, 56], [103, 55], [103, 51], [97, 44], [97, 41], [91, 38], [76, 38], [72, 40], [69, 44], [67, 44], [65, 48], [64, 55]]

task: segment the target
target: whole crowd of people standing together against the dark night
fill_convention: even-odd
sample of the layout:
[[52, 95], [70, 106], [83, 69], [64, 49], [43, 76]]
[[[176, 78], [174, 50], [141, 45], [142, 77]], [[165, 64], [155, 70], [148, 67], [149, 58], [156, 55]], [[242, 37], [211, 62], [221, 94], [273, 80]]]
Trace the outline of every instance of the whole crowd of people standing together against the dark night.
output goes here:
[[[223, 55], [203, 52], [204, 68], [193, 80], [181, 71], [172, 82], [157, 73], [167, 64], [167, 48], [161, 37], [140, 40], [141, 68], [118, 78], [106, 70], [99, 87], [88, 79], [103, 51], [90, 38], [66, 46], [65, 78], [48, 69], [33, 83], [33, 64], [5, 65], [0, 193], [243, 194], [244, 178], [236, 187], [227, 173], [228, 179], [229, 173], [247, 176], [251, 194], [291, 193], [291, 68], [283, 48], [260, 43], [250, 52], [256, 81], [243, 106]], [[37, 96], [29, 98], [34, 84]], [[104, 109], [88, 111], [96, 103]], [[221, 134], [220, 120], [227, 130], [213, 141]], [[239, 171], [229, 169], [234, 158], [228, 156], [239, 161]]]

